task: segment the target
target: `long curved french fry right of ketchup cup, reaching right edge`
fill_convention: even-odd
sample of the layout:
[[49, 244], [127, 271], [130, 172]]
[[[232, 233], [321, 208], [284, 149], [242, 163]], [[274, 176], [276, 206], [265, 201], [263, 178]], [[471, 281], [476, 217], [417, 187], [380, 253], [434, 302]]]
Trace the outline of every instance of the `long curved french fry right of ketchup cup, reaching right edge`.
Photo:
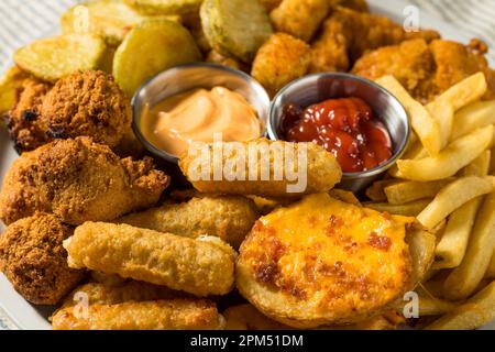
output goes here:
[[488, 147], [493, 133], [493, 125], [488, 125], [452, 142], [437, 156], [419, 161], [397, 161], [400, 175], [406, 179], [421, 182], [451, 177]]

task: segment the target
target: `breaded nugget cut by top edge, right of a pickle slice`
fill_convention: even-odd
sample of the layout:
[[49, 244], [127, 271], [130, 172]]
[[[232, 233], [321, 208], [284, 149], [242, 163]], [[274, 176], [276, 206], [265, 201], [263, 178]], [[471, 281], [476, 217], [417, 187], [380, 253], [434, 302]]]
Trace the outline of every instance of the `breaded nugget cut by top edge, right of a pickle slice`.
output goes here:
[[330, 10], [329, 0], [283, 0], [270, 13], [276, 32], [309, 42]]

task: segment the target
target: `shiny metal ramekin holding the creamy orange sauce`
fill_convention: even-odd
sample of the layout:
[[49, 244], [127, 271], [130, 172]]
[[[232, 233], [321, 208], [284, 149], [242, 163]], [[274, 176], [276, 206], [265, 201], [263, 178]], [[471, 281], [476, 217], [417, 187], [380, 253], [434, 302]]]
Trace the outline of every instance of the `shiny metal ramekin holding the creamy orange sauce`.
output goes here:
[[132, 98], [132, 128], [138, 139], [155, 156], [176, 164], [177, 155], [153, 145], [141, 133], [141, 114], [146, 105], [155, 106], [161, 100], [196, 88], [211, 89], [221, 86], [242, 95], [256, 110], [262, 123], [262, 135], [266, 135], [270, 97], [251, 76], [226, 66], [195, 63], [167, 69], [145, 82]]

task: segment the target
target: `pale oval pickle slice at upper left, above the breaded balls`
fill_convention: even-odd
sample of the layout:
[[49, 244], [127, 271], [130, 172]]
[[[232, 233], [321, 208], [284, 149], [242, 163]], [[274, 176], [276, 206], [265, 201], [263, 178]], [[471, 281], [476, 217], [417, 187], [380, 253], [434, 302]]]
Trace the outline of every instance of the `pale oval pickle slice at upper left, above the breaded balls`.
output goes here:
[[105, 69], [109, 51], [95, 34], [64, 34], [35, 41], [13, 56], [15, 64], [35, 77], [55, 81], [77, 70]]

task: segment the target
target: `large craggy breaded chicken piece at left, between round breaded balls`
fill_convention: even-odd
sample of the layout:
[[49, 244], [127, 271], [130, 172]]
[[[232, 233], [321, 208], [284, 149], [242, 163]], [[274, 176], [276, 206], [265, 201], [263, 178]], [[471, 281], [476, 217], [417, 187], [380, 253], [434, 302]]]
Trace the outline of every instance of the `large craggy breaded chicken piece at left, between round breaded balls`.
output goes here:
[[0, 193], [0, 219], [9, 224], [44, 211], [69, 224], [113, 220], [154, 206], [168, 182], [150, 158], [120, 160], [89, 138], [59, 140], [13, 163]]

